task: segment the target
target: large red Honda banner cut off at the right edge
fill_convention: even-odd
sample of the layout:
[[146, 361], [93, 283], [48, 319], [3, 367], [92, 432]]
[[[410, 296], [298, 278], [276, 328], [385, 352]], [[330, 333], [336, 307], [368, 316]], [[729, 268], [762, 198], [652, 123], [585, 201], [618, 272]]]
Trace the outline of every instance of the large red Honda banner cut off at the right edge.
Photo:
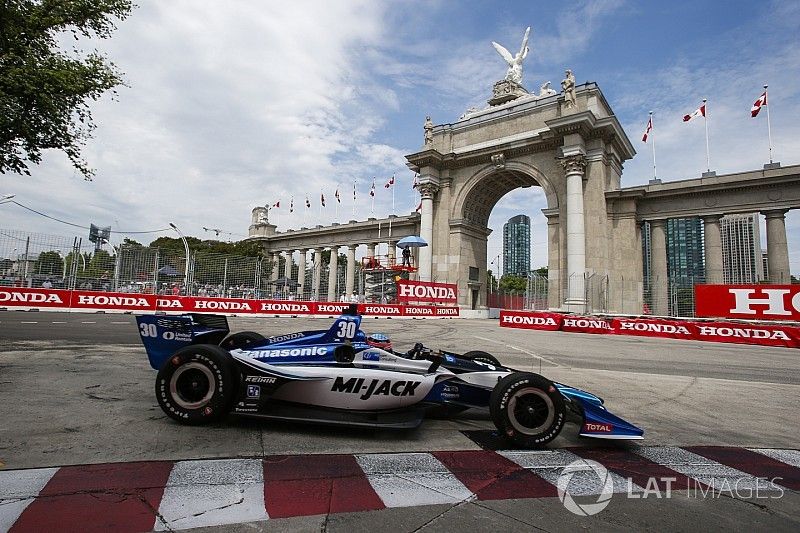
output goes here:
[[800, 285], [695, 285], [695, 315], [800, 320]]

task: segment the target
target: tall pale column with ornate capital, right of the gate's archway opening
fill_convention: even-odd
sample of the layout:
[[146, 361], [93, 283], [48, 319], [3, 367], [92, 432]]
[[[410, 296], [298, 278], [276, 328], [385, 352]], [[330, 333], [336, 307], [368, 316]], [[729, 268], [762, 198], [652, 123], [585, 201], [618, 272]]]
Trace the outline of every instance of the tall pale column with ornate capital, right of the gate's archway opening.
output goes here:
[[[574, 155], [561, 160], [567, 177], [567, 309], [584, 311], [586, 296], [586, 226], [583, 219], [583, 177], [586, 157]], [[574, 309], [570, 309], [574, 308]]]

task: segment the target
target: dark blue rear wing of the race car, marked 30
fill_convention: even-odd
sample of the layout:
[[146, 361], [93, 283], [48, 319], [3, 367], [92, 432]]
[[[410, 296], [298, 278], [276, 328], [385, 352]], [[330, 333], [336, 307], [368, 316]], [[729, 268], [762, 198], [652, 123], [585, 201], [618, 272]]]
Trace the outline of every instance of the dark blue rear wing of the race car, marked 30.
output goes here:
[[156, 370], [173, 353], [192, 344], [219, 344], [230, 328], [223, 315], [138, 315], [139, 337]]

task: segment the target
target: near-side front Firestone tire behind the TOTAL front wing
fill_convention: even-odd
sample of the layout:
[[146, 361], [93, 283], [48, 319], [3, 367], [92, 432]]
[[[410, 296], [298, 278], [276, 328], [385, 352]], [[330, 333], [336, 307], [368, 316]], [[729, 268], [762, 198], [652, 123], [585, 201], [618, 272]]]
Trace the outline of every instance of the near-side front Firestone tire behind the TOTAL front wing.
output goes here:
[[567, 420], [564, 397], [538, 374], [514, 372], [501, 379], [489, 397], [494, 425], [522, 448], [540, 448], [556, 438]]

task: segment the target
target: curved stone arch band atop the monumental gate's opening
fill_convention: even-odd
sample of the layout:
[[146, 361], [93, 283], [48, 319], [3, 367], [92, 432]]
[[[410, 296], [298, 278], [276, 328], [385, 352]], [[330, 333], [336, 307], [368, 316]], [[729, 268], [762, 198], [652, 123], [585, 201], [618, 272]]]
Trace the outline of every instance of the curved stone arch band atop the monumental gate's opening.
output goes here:
[[520, 187], [539, 186], [544, 190], [548, 209], [558, 208], [553, 182], [538, 168], [520, 161], [508, 161], [503, 168], [486, 165], [467, 178], [449, 213], [451, 220], [462, 220], [487, 227], [489, 215], [500, 199]]

